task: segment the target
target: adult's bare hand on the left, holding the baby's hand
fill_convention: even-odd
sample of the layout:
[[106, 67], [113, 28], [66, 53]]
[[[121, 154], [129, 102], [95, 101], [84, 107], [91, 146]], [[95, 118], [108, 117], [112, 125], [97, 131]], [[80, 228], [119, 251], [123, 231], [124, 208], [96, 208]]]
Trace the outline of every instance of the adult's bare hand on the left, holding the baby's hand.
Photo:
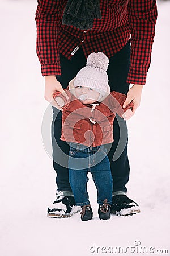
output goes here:
[[50, 104], [52, 104], [56, 108], [58, 108], [58, 105], [53, 99], [53, 94], [57, 91], [61, 92], [63, 96], [68, 99], [67, 94], [63, 90], [61, 84], [57, 81], [56, 76], [45, 76], [45, 100], [49, 101]]

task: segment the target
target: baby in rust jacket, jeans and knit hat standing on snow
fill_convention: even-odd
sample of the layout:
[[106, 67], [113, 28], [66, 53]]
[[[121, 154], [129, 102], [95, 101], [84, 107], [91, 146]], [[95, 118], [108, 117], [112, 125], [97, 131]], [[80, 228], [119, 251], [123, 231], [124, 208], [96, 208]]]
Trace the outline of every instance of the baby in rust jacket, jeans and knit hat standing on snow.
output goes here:
[[106, 72], [108, 64], [109, 59], [104, 53], [91, 53], [86, 67], [65, 90], [67, 98], [59, 92], [53, 95], [62, 108], [61, 140], [70, 144], [69, 181], [76, 205], [82, 207], [82, 221], [91, 220], [93, 216], [87, 192], [88, 172], [97, 188], [99, 218], [111, 218], [113, 180], [104, 145], [114, 141], [116, 113], [126, 120], [133, 115], [132, 102], [122, 109], [127, 96], [111, 92]]

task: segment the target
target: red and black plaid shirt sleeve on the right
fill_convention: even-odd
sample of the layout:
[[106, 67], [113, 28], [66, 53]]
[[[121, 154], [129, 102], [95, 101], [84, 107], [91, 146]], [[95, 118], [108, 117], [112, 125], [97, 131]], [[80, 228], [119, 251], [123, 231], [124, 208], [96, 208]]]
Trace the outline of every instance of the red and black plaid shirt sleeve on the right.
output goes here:
[[130, 71], [127, 82], [145, 84], [157, 18], [156, 0], [129, 0]]

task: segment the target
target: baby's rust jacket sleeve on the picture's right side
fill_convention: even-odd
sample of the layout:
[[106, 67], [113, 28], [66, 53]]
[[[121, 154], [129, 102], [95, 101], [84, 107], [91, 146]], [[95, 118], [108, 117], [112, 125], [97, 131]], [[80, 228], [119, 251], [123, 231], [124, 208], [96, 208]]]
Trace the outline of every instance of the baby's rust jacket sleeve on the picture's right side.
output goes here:
[[109, 108], [113, 111], [113, 113], [117, 113], [120, 117], [125, 113], [126, 110], [131, 109], [133, 110], [134, 104], [133, 102], [130, 102], [126, 106], [126, 108], [123, 109], [124, 102], [127, 98], [125, 94], [118, 93], [118, 92], [111, 92], [109, 97]]

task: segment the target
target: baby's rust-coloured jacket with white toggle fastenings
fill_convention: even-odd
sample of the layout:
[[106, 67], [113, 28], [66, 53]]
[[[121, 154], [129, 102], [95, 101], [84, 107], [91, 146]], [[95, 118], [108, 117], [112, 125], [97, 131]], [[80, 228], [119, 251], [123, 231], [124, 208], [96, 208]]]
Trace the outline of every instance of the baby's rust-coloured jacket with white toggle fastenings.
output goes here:
[[65, 92], [69, 100], [59, 92], [53, 95], [54, 98], [59, 96], [65, 101], [62, 111], [62, 141], [92, 147], [112, 143], [116, 113], [122, 117], [127, 109], [134, 107], [131, 102], [122, 109], [127, 96], [118, 92], [111, 92], [102, 102], [90, 105], [84, 105], [69, 90]]

